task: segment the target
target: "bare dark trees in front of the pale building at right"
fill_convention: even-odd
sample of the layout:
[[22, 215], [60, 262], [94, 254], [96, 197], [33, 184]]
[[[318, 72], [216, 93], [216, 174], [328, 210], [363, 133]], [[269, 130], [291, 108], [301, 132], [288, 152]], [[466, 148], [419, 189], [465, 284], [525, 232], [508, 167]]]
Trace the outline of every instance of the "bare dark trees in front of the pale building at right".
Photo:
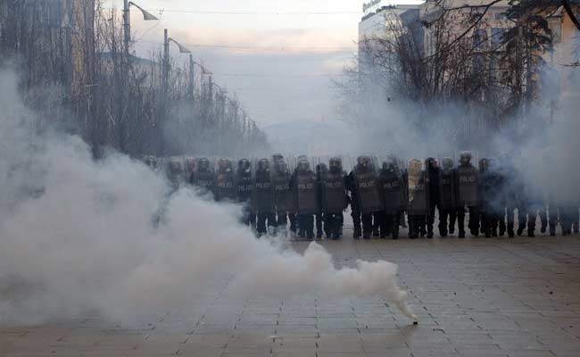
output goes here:
[[[549, 123], [558, 109], [561, 76], [579, 83], [573, 77], [580, 71], [580, 6], [569, 0], [505, 3], [435, 0], [415, 12], [384, 8], [384, 31], [360, 38], [355, 62], [336, 83], [344, 116], [381, 120], [372, 108], [396, 102], [412, 106], [405, 112], [418, 129], [443, 127], [458, 142]], [[562, 39], [551, 25], [565, 19], [576, 33]], [[562, 41], [572, 42], [572, 59], [551, 61]], [[434, 120], [450, 116], [462, 118], [443, 125]]]

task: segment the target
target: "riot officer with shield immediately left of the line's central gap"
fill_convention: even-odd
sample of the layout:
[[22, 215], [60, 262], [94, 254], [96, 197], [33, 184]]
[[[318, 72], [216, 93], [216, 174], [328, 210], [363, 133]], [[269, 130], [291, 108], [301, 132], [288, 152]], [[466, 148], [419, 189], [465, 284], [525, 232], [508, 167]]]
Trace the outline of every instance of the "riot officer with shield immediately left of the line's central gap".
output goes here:
[[328, 162], [328, 171], [321, 178], [320, 193], [327, 237], [340, 239], [343, 231], [343, 211], [348, 204], [346, 174], [340, 158], [333, 157]]

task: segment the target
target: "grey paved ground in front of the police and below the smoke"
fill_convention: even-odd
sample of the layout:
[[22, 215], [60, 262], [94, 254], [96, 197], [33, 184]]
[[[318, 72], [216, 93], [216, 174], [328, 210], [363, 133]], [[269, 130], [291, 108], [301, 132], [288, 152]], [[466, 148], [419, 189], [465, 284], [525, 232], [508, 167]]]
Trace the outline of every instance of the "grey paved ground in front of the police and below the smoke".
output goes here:
[[580, 356], [578, 236], [322, 244], [338, 265], [398, 263], [418, 326], [380, 299], [240, 302], [220, 282], [137, 327], [0, 327], [0, 356]]

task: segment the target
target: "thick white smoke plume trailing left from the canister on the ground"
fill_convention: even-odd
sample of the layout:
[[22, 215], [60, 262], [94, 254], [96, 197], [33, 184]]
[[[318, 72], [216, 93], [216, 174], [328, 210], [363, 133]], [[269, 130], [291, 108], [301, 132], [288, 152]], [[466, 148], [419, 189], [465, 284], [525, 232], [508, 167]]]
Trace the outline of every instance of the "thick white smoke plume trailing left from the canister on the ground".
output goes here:
[[240, 297], [380, 295], [417, 318], [396, 265], [336, 269], [319, 245], [300, 254], [258, 241], [238, 224], [239, 207], [192, 190], [174, 194], [167, 223], [153, 228], [164, 180], [124, 155], [93, 162], [79, 137], [34, 134], [16, 83], [0, 71], [0, 322], [95, 309], [130, 320], [186, 307], [208, 281], [231, 274]]

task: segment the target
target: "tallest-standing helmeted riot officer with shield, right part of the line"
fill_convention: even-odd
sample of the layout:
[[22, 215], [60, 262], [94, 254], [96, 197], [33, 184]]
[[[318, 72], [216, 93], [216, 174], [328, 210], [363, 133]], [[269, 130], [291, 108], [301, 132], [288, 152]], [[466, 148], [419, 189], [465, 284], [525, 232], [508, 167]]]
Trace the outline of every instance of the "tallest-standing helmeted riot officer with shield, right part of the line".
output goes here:
[[469, 211], [468, 228], [471, 235], [479, 236], [479, 176], [476, 168], [471, 163], [470, 152], [460, 154], [460, 165], [457, 168], [457, 178], [459, 180], [459, 205], [458, 205], [458, 226], [460, 238], [465, 238], [465, 209]]

